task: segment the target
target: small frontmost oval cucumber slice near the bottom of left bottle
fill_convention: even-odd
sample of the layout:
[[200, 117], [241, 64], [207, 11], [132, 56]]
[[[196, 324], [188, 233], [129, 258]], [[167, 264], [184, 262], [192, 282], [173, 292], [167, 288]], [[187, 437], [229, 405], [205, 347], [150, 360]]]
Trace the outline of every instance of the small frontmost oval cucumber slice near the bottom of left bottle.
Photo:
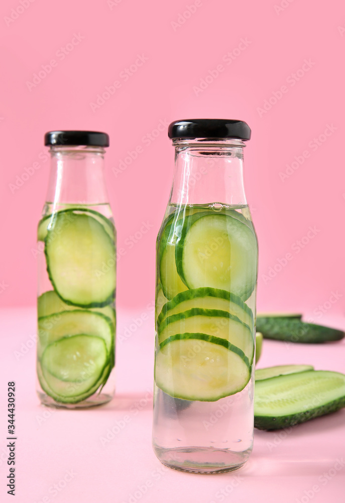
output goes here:
[[106, 363], [104, 340], [86, 335], [64, 337], [49, 344], [41, 359], [43, 373], [47, 370], [60, 381], [81, 385], [92, 380], [91, 386], [98, 382]]

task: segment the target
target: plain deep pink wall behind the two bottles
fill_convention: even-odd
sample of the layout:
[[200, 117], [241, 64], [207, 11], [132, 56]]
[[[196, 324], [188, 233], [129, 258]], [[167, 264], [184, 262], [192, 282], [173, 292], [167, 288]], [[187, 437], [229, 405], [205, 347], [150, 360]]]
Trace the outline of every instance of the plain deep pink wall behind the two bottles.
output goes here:
[[[155, 239], [173, 171], [166, 129], [150, 144], [147, 135], [159, 123], [214, 117], [245, 120], [253, 131], [245, 184], [259, 236], [259, 309], [302, 310], [315, 320], [343, 312], [342, 2], [22, 3], [6, 0], [0, 7], [3, 306], [35, 305], [32, 249], [48, 182], [49, 163], [41, 153], [47, 130], [109, 133], [106, 179], [118, 246], [126, 251], [118, 265], [118, 306], [145, 309], [154, 298]], [[125, 79], [138, 55], [144, 62]], [[52, 59], [51, 71], [30, 86]], [[306, 71], [298, 72], [303, 65]], [[209, 72], [213, 81], [208, 77], [207, 87], [196, 89]], [[97, 95], [116, 80], [118, 89], [92, 110]], [[328, 125], [329, 136], [322, 136]], [[138, 146], [137, 158], [114, 175]], [[296, 171], [282, 181], [280, 173], [294, 161]], [[36, 171], [30, 170], [34, 162]], [[23, 182], [25, 169], [31, 175]], [[21, 184], [17, 177], [23, 183], [14, 189]], [[131, 246], [142, 222], [150, 230]], [[312, 238], [305, 237], [310, 226]], [[296, 242], [303, 237], [302, 248]], [[289, 253], [281, 267], [278, 259]]]

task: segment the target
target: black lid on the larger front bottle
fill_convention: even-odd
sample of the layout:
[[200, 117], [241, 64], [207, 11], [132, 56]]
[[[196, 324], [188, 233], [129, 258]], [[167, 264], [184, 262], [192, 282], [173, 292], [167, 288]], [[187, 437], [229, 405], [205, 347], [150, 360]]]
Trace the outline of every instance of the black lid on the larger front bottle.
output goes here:
[[172, 122], [169, 138], [240, 138], [250, 140], [251, 128], [235, 119], [185, 119]]

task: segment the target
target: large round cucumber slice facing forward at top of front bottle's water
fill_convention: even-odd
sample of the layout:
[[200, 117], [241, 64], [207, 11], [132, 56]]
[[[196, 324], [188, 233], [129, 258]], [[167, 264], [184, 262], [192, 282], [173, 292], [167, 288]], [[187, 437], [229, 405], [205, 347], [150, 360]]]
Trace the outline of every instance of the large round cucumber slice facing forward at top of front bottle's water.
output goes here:
[[196, 213], [186, 219], [175, 250], [177, 272], [188, 288], [212, 287], [246, 300], [257, 278], [253, 230], [226, 214]]

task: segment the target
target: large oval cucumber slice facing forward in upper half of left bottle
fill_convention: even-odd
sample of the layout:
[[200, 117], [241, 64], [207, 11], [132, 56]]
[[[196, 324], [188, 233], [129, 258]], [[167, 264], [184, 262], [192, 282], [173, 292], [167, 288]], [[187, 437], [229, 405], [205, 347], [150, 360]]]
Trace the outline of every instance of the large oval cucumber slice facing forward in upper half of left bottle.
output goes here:
[[64, 302], [80, 307], [112, 302], [116, 286], [114, 241], [93, 216], [80, 210], [54, 213], [45, 255], [49, 279]]

